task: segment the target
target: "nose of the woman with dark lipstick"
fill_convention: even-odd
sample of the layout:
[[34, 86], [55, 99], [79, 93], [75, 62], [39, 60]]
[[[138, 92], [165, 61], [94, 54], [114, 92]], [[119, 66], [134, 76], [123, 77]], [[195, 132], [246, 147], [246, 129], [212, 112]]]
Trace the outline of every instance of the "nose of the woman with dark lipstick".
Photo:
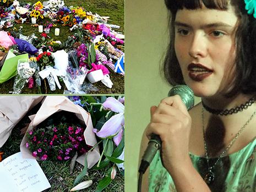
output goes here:
[[204, 34], [194, 34], [190, 41], [188, 54], [193, 58], [206, 57], [208, 54], [207, 40]]

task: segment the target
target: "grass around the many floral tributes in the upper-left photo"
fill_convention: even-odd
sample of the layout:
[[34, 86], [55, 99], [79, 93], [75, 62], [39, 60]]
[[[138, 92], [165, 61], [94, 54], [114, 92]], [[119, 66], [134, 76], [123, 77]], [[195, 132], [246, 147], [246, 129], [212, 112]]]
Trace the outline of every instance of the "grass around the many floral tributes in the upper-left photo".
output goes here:
[[[20, 1], [20, 3], [31, 3], [34, 4], [37, 1]], [[110, 17], [110, 21], [108, 21], [109, 24], [115, 24], [119, 25], [120, 29], [117, 29], [116, 31], [120, 31], [124, 34], [124, 0], [117, 0], [117, 1], [107, 1], [107, 0], [88, 0], [88, 1], [77, 1], [77, 0], [70, 0], [70, 1], [64, 1], [65, 6], [79, 6], [84, 7], [87, 11], [90, 11], [92, 13], [97, 13], [101, 16], [108, 16]], [[43, 22], [47, 20], [44, 19]], [[42, 24], [39, 22], [39, 24]], [[57, 23], [56, 23], [57, 24]], [[38, 32], [37, 27], [31, 26], [29, 23], [24, 24], [15, 24], [15, 28], [19, 29], [20, 26], [23, 26], [22, 34], [23, 35], [31, 35], [35, 34], [37, 37], [40, 37], [40, 33]], [[68, 26], [62, 26], [61, 24], [57, 24], [56, 28], [60, 29], [60, 35], [56, 37], [54, 35], [54, 29], [51, 29], [49, 36], [51, 39], [59, 40], [59, 41], [65, 41], [68, 36], [73, 35], [72, 31], [69, 30]], [[13, 28], [9, 28], [8, 30], [12, 30]], [[112, 89], [109, 89], [101, 82], [93, 84], [97, 87], [97, 91], [90, 91], [89, 94], [124, 94], [124, 76], [117, 74], [115, 72], [110, 71], [110, 77], [113, 82]], [[46, 80], [47, 81], [47, 80]], [[88, 82], [88, 80], [86, 80]], [[6, 81], [3, 84], [0, 84], [0, 94], [8, 94], [9, 91], [13, 91], [13, 83], [14, 78]], [[63, 91], [65, 89], [64, 83], [61, 82], [62, 89], [59, 90], [58, 88], [56, 91], [51, 91], [50, 87], [48, 86], [48, 83], [46, 82], [46, 87], [42, 81], [41, 86], [41, 92], [42, 94], [63, 94]], [[36, 87], [29, 89], [27, 86], [24, 87], [21, 94], [40, 94], [38, 89]]]

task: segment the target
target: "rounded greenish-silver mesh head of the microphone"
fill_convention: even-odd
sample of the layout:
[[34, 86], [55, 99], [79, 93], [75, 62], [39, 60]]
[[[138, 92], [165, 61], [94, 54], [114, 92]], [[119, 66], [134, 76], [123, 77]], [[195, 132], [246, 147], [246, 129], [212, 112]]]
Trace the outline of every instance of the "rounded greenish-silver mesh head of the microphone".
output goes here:
[[194, 92], [187, 85], [176, 85], [168, 92], [168, 96], [179, 95], [189, 110], [194, 106]]

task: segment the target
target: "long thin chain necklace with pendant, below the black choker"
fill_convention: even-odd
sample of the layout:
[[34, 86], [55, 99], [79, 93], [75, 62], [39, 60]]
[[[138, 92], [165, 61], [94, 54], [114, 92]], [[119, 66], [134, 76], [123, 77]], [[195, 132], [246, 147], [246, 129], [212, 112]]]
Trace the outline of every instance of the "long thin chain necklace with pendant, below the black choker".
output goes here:
[[252, 120], [252, 118], [254, 117], [255, 114], [256, 114], [256, 110], [253, 112], [252, 116], [250, 116], [250, 118], [247, 120], [247, 122], [239, 129], [239, 131], [237, 132], [235, 137], [231, 140], [230, 144], [228, 144], [228, 146], [220, 153], [220, 156], [217, 158], [217, 160], [213, 164], [213, 166], [210, 166], [210, 164], [209, 164], [209, 154], [208, 154], [208, 149], [207, 149], [207, 145], [206, 145], [205, 131], [204, 131], [204, 107], [202, 107], [201, 118], [202, 118], [202, 124], [203, 124], [202, 127], [203, 127], [203, 139], [204, 139], [204, 154], [205, 154], [206, 162], [207, 162], [207, 165], [208, 165], [208, 172], [203, 177], [205, 183], [207, 183], [209, 185], [214, 181], [215, 174], [214, 174], [213, 169], [215, 168], [216, 164], [228, 152], [228, 150], [230, 150], [230, 148], [232, 147], [234, 142], [237, 140], [238, 136], [242, 133], [244, 128], [246, 128], [246, 126], [249, 124], [250, 120]]

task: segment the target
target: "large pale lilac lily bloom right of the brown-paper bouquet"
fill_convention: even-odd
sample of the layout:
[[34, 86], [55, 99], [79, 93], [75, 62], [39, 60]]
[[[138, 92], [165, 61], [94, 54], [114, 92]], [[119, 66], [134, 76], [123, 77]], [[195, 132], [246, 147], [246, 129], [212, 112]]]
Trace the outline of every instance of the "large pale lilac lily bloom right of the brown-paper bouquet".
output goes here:
[[116, 145], [119, 145], [123, 136], [121, 131], [124, 127], [124, 105], [114, 97], [108, 97], [102, 105], [105, 109], [110, 109], [118, 114], [115, 114], [115, 116], [108, 119], [100, 131], [97, 132], [97, 129], [94, 129], [94, 133], [100, 138], [107, 138], [115, 135], [113, 140]]

